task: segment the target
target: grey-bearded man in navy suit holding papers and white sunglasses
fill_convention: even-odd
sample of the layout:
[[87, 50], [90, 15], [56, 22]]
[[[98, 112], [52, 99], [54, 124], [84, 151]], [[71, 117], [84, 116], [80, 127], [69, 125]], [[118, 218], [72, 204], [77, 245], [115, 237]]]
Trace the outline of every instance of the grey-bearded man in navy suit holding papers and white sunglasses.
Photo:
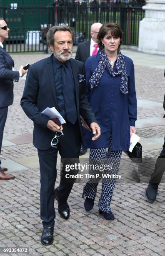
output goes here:
[[[79, 158], [82, 142], [80, 115], [95, 134], [92, 140], [100, 137], [100, 127], [85, 96], [84, 64], [71, 59], [73, 41], [74, 32], [70, 27], [50, 28], [47, 32], [47, 43], [53, 54], [30, 65], [21, 99], [23, 110], [34, 122], [33, 144], [38, 150], [40, 161], [40, 216], [43, 224], [41, 236], [43, 245], [50, 245], [53, 242], [54, 200], [58, 202], [58, 212], [62, 218], [67, 220], [70, 215], [67, 198], [75, 179], [67, 181], [68, 172], [65, 170], [65, 165], [74, 164]], [[41, 113], [47, 107], [55, 107], [58, 110], [66, 120], [63, 127]], [[60, 185], [55, 189], [58, 151], [63, 167]], [[70, 171], [70, 174], [72, 173], [75, 173], [75, 170]]]

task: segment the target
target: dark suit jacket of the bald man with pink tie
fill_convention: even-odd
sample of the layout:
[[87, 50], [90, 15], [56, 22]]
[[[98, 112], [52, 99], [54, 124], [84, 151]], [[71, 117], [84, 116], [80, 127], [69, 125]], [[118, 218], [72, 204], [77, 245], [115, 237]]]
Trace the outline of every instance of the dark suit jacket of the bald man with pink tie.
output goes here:
[[85, 63], [88, 57], [90, 57], [90, 40], [78, 44], [75, 59]]

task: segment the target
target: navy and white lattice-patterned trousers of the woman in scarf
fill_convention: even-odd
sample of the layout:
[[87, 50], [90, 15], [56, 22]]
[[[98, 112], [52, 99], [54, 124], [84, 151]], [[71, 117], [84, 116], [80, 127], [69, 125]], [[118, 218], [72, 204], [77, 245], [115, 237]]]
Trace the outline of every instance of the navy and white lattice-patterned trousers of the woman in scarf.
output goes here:
[[[108, 145], [108, 149], [106, 148], [90, 148], [90, 156], [89, 156], [89, 164], [106, 164], [111, 165], [112, 169], [104, 170], [103, 174], [117, 174], [120, 159], [122, 156], [122, 151], [112, 151], [112, 134], [110, 135], [110, 141]], [[95, 168], [89, 170], [89, 174], [96, 175], [98, 173]], [[90, 199], [94, 199], [96, 197], [97, 185], [102, 175], [100, 177], [93, 179], [88, 179], [87, 183], [83, 188], [82, 197], [88, 197]], [[102, 179], [102, 191], [100, 195], [100, 199], [98, 202], [98, 207], [100, 210], [110, 213], [110, 203], [112, 200], [113, 191], [115, 189], [115, 179]]]

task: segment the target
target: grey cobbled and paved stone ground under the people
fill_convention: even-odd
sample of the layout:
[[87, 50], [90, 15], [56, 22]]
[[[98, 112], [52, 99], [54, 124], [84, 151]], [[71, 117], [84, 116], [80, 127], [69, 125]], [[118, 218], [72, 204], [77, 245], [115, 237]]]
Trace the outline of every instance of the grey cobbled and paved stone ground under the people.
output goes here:
[[[139, 103], [137, 127], [144, 149], [143, 156], [155, 159], [165, 135], [162, 118], [165, 92], [163, 69], [156, 68], [156, 64], [153, 67], [159, 56], [150, 55], [145, 65], [143, 61], [139, 65], [140, 56], [143, 60], [145, 54], [126, 50], [124, 53], [133, 56], [135, 63]], [[47, 56], [17, 54], [13, 58], [18, 69], [20, 64], [33, 63]], [[21, 80], [15, 83], [15, 99], [9, 107], [5, 126], [2, 164], [9, 167], [8, 172], [16, 178], [0, 181], [0, 247], [25, 246], [29, 248], [29, 255], [34, 256], [165, 255], [165, 184], [160, 184], [157, 200], [153, 204], [145, 201], [146, 184], [117, 184], [112, 198], [115, 220], [108, 221], [98, 213], [100, 184], [95, 206], [90, 212], [86, 212], [83, 208], [84, 199], [81, 197], [83, 184], [76, 183], [68, 200], [69, 220], [60, 218], [56, 211], [54, 243], [42, 246], [37, 150], [32, 145], [32, 121], [20, 107], [24, 82]], [[87, 156], [88, 153], [85, 157]], [[56, 186], [59, 178], [58, 174]], [[55, 208], [57, 209], [56, 202]]]

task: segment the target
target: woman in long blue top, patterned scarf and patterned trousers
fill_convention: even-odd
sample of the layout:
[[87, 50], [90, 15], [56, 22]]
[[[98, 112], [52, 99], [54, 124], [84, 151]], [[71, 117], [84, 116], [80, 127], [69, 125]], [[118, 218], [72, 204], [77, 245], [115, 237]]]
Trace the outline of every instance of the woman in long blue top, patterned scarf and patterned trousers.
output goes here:
[[[122, 151], [130, 146], [130, 137], [136, 133], [137, 101], [133, 61], [120, 52], [122, 30], [116, 23], [107, 23], [97, 35], [100, 53], [91, 56], [85, 63], [87, 96], [90, 101], [102, 135], [92, 141], [92, 131], [83, 122], [88, 131], [84, 132], [84, 148], [90, 148], [90, 163], [111, 164], [104, 170], [106, 174], [117, 174]], [[95, 162], [96, 163], [96, 162]], [[90, 170], [90, 174], [96, 170]], [[100, 177], [89, 179], [83, 189], [85, 210], [94, 205], [97, 185]], [[99, 199], [99, 212], [104, 218], [113, 220], [111, 199], [115, 188], [115, 179], [102, 180], [102, 192]]]

